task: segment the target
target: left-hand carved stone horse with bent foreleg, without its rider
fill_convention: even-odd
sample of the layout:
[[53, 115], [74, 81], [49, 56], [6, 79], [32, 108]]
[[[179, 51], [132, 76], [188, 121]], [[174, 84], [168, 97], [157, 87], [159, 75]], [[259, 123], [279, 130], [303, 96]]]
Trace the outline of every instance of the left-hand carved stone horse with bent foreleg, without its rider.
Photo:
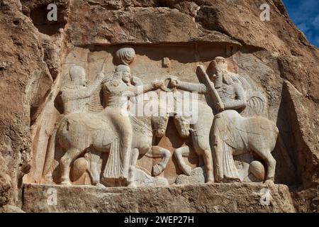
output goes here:
[[[107, 109], [107, 108], [106, 108]], [[112, 119], [104, 113], [98, 114], [75, 113], [62, 119], [57, 130], [50, 138], [44, 175], [50, 169], [55, 154], [55, 143], [65, 150], [60, 160], [61, 184], [70, 184], [70, 165], [80, 155], [93, 150], [110, 153], [112, 145], [118, 142], [118, 135], [113, 126]], [[152, 146], [153, 133], [162, 137], [167, 128], [169, 115], [151, 117], [130, 117], [133, 127], [133, 140], [128, 171], [128, 185], [134, 186], [135, 165], [139, 155], [148, 157], [162, 157], [162, 161], [153, 167], [153, 175], [159, 175], [167, 165], [171, 153], [169, 150]], [[116, 142], [117, 141], [117, 142]], [[93, 172], [93, 175], [92, 175]], [[93, 184], [99, 184], [97, 171], [90, 171]]]

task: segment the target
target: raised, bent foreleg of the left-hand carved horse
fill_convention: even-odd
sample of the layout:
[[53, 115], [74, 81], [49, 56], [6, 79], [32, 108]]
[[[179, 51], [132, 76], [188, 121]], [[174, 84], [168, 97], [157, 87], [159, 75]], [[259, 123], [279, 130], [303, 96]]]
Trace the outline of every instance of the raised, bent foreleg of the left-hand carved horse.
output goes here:
[[169, 152], [169, 150], [161, 148], [159, 146], [152, 146], [151, 149], [153, 158], [162, 157], [162, 161], [152, 167], [152, 175], [156, 177], [160, 175], [167, 167], [167, 163], [171, 158], [171, 153]]

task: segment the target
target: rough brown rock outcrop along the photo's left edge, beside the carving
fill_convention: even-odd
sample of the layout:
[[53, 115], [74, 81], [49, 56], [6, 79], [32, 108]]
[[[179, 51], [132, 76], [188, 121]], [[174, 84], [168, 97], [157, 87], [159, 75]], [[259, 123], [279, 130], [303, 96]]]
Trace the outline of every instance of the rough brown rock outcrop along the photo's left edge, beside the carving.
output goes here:
[[43, 61], [40, 35], [21, 13], [20, 1], [1, 1], [0, 21], [0, 204], [4, 205], [19, 203], [18, 184], [30, 170], [32, 156], [30, 125], [50, 91], [52, 77]]

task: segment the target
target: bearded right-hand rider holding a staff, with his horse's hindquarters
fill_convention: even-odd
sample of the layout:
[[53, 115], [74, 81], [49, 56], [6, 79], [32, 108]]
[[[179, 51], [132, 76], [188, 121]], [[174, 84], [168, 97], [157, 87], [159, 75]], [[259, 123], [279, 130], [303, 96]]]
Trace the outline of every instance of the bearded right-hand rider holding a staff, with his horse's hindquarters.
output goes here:
[[[237, 74], [228, 72], [228, 65], [223, 57], [216, 57], [212, 63], [215, 70], [212, 78], [208, 77], [202, 66], [197, 68], [196, 73], [199, 79], [203, 80], [203, 84], [181, 82], [171, 78], [170, 86], [206, 94], [206, 99], [212, 104], [211, 108], [216, 116], [213, 118], [209, 140], [213, 148], [216, 182], [240, 181], [233, 155], [248, 152], [256, 153], [266, 162], [268, 167], [266, 179], [273, 181], [276, 160], [271, 153], [279, 135], [278, 128], [272, 121], [262, 116], [248, 118], [240, 116], [239, 112], [247, 106], [248, 99], [243, 86], [247, 81]], [[209, 173], [211, 163], [205, 164]]]

